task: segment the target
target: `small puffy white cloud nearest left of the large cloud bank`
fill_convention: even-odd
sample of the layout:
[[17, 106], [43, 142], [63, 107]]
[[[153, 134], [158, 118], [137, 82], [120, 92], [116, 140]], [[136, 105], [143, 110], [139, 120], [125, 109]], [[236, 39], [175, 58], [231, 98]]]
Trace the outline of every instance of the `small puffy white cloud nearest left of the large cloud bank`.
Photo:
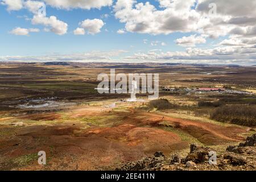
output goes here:
[[98, 34], [101, 32], [101, 28], [104, 26], [104, 22], [101, 19], [85, 19], [80, 22], [80, 28], [74, 31], [75, 35], [84, 35], [85, 32], [88, 34]]

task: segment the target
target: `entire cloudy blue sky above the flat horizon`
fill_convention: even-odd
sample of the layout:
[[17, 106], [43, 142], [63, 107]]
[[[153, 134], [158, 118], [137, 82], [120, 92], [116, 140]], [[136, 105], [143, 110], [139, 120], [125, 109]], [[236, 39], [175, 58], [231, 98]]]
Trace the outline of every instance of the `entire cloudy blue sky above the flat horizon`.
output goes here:
[[256, 1], [0, 0], [0, 61], [256, 64]]

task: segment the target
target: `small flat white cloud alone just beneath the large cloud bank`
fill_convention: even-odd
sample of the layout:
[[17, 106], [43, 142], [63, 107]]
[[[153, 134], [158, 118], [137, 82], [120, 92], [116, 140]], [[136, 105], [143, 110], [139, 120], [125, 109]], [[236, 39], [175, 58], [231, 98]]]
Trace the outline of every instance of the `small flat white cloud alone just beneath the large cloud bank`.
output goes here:
[[183, 38], [177, 39], [176, 44], [183, 47], [195, 47], [196, 44], [202, 44], [205, 43], [206, 40], [203, 36], [183, 36]]

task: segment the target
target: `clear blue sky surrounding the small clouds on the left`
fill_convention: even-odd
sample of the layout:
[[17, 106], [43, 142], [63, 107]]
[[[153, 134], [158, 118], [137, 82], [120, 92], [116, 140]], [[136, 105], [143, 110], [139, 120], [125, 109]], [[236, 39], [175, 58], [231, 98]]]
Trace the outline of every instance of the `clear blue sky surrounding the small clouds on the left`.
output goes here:
[[[65, 35], [56, 35], [52, 32], [36, 32], [29, 36], [18, 36], [10, 34], [15, 27], [40, 28], [44, 26], [33, 25], [27, 18], [32, 18], [33, 14], [27, 10], [7, 11], [5, 6], [0, 6], [1, 22], [4, 25], [0, 30], [0, 55], [42, 55], [48, 53], [72, 53], [88, 51], [110, 51], [114, 49], [125, 49], [130, 52], [149, 51], [151, 49], [162, 49], [163, 51], [181, 51], [185, 48], [176, 46], [175, 40], [181, 36], [179, 32], [172, 35], [150, 35], [127, 32], [117, 34], [119, 29], [125, 27], [124, 23], [119, 23], [118, 19], [111, 13], [111, 7], [102, 7], [101, 10], [58, 10], [47, 6], [47, 16], [54, 15], [58, 19], [68, 23], [68, 32]], [[109, 14], [108, 18], [102, 18], [104, 14]], [[4, 17], [4, 18], [3, 18]], [[79, 22], [84, 19], [102, 19], [104, 27], [96, 35], [73, 35], [73, 30], [78, 27]], [[147, 39], [148, 44], [143, 40]], [[167, 46], [151, 46], [150, 42], [164, 42]]]

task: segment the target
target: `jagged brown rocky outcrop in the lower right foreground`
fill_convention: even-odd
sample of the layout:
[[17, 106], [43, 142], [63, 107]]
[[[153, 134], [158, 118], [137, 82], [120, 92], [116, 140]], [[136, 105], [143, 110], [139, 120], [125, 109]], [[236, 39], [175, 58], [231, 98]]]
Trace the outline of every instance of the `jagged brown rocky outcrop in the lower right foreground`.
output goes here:
[[[122, 171], [255, 171], [256, 169], [256, 134], [247, 137], [245, 143], [229, 146], [221, 155], [217, 155], [216, 164], [209, 164], [211, 148], [191, 144], [187, 156], [172, 155], [166, 157], [163, 152], [129, 162], [116, 170]], [[214, 160], [211, 160], [214, 163]]]

